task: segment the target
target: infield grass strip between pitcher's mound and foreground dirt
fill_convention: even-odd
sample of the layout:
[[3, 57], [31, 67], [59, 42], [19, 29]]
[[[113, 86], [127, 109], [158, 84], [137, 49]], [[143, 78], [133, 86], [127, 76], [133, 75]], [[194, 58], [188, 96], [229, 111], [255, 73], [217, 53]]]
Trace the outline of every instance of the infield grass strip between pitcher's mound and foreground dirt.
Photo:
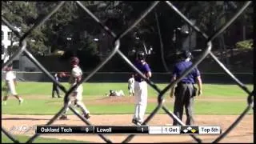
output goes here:
[[[26, 100], [22, 106], [18, 106], [18, 101], [10, 99], [6, 106], [2, 106], [2, 114], [56, 114], [62, 107], [59, 100]], [[133, 114], [134, 104], [101, 104], [86, 105], [91, 114]], [[149, 103], [146, 113], [149, 114], [157, 106], [157, 103]], [[166, 106], [173, 110], [173, 103], [167, 102]], [[243, 102], [197, 102], [194, 103], [194, 114], [240, 114], [246, 107], [246, 101]], [[18, 108], [18, 109], [17, 109]], [[163, 110], [159, 111], [164, 114]], [[71, 114], [71, 112], [70, 112]], [[252, 114], [252, 110], [250, 111]]]

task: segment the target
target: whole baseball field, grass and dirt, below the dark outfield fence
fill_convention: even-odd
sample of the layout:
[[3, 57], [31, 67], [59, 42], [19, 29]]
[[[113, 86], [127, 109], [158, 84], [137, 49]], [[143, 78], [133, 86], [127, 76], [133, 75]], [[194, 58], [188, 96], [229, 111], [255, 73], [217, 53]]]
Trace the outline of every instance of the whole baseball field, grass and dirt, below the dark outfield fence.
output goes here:
[[[63, 83], [68, 89], [67, 83]], [[159, 83], [162, 90], [167, 84]], [[252, 85], [248, 85], [250, 90]], [[134, 113], [134, 97], [128, 96], [127, 83], [89, 83], [83, 84], [83, 102], [90, 110], [90, 122], [94, 125], [132, 125], [131, 118]], [[53, 118], [54, 114], [62, 108], [63, 98], [51, 98], [52, 83], [50, 82], [18, 82], [18, 94], [24, 98], [21, 106], [18, 100], [10, 97], [7, 105], [2, 105], [2, 126], [10, 130], [13, 126], [43, 125]], [[149, 98], [146, 116], [157, 106], [157, 92], [148, 86]], [[106, 97], [109, 90], [123, 90], [125, 97]], [[3, 92], [2, 92], [3, 95]], [[173, 111], [174, 98], [169, 98], [169, 91], [164, 103]], [[63, 96], [63, 92], [62, 92]], [[246, 107], [246, 93], [237, 85], [203, 85], [203, 94], [196, 97], [194, 102], [194, 118], [197, 126], [222, 126], [225, 131], [238, 114]], [[57, 120], [58, 125], [85, 125], [74, 114], [69, 113], [69, 120]], [[186, 121], [186, 116], [183, 117]], [[149, 122], [151, 126], [171, 125], [173, 122], [163, 110]], [[31, 131], [31, 134], [34, 131]], [[26, 142], [31, 134], [15, 133], [21, 142]], [[122, 142], [127, 135], [106, 135], [112, 142]], [[242, 119], [221, 142], [253, 142], [253, 110]], [[218, 135], [198, 135], [202, 142], [212, 142]], [[2, 142], [10, 142], [2, 134]], [[43, 135], [35, 142], [104, 142], [98, 135]], [[194, 142], [188, 135], [138, 135], [130, 142]]]

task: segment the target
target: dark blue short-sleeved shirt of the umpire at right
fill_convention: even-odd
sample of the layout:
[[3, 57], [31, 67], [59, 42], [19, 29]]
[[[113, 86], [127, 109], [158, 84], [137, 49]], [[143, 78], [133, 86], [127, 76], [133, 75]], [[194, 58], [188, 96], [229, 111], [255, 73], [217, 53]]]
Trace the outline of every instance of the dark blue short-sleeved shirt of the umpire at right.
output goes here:
[[[188, 69], [191, 65], [192, 65], [192, 62], [190, 61], [182, 61], [182, 62], [176, 63], [174, 65], [173, 76], [176, 76], [176, 78], [179, 78], [182, 75], [182, 73], [186, 69]], [[200, 72], [196, 67], [194, 68], [194, 70], [190, 72], [190, 74], [187, 74], [185, 78], [182, 78], [180, 82], [195, 83], [195, 78], [197, 78], [198, 76], [200, 76]]]

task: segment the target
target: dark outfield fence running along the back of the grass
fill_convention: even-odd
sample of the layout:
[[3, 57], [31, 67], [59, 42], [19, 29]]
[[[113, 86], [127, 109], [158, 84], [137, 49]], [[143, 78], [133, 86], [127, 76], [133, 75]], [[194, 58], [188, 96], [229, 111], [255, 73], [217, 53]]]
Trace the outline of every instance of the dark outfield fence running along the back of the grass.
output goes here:
[[[54, 75], [54, 72], [50, 72]], [[84, 77], [87, 77], [90, 73], [84, 73]], [[170, 82], [170, 73], [153, 73], [151, 78], [153, 82], [168, 83]], [[131, 73], [123, 72], [98, 72], [94, 74], [87, 82], [127, 82]], [[52, 82], [46, 74], [42, 72], [16, 72], [18, 81], [24, 82]], [[243, 83], [252, 84], [252, 73], [236, 73], [234, 74], [238, 79], [242, 79]], [[201, 73], [203, 83], [219, 83], [219, 84], [234, 84], [232, 78], [225, 73]], [[2, 72], [2, 80], [4, 79], [4, 73]], [[60, 82], [67, 82], [68, 78], [59, 78]]]

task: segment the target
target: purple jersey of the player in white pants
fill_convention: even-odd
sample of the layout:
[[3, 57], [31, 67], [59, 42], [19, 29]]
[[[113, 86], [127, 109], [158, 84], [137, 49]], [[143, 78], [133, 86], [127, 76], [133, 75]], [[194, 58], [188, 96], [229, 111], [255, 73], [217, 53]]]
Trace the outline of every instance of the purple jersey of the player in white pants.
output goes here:
[[[148, 73], [150, 70], [150, 66], [149, 64], [145, 63], [144, 65], [142, 64], [142, 62], [139, 62], [139, 61], [136, 61], [134, 62], [134, 66], [137, 67], [138, 70], [140, 70], [142, 72], [142, 74], [145, 74]], [[144, 81], [143, 78], [138, 75], [138, 74], [135, 74], [134, 76], [134, 80], [137, 81], [137, 82], [142, 82]]]

